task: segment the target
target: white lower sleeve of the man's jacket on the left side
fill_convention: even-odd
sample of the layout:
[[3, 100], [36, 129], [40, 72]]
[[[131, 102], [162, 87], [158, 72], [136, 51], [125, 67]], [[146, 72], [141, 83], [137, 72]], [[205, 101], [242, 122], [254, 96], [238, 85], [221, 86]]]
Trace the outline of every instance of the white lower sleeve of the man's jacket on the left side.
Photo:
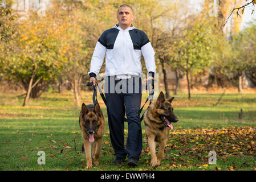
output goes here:
[[97, 41], [94, 49], [94, 54], [92, 55], [91, 67], [90, 67], [90, 72], [88, 72], [88, 75], [90, 73], [95, 73], [96, 76], [99, 74], [100, 68], [104, 61], [106, 51], [107, 51], [107, 48], [103, 46], [101, 43], [99, 43], [99, 41]]

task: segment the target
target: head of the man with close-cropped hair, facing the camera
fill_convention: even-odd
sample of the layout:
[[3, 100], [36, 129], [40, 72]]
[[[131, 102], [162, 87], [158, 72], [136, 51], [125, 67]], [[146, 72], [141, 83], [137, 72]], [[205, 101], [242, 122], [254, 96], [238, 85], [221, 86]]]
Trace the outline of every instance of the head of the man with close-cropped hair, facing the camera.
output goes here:
[[134, 15], [132, 14], [132, 10], [129, 7], [120, 7], [117, 13], [118, 23], [123, 26], [128, 26], [132, 23]]

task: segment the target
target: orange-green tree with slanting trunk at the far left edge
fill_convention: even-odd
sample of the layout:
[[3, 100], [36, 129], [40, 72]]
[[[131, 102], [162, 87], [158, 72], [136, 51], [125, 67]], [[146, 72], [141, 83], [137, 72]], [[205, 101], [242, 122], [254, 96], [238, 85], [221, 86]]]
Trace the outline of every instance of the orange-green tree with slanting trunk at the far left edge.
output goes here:
[[[27, 105], [31, 90], [40, 81], [55, 79], [63, 60], [62, 32], [52, 15], [38, 16], [31, 11], [28, 18], [16, 23], [14, 39], [1, 45], [3, 72], [9, 79], [21, 81], [27, 90], [23, 106]], [[59, 31], [55, 31], [56, 28]]]

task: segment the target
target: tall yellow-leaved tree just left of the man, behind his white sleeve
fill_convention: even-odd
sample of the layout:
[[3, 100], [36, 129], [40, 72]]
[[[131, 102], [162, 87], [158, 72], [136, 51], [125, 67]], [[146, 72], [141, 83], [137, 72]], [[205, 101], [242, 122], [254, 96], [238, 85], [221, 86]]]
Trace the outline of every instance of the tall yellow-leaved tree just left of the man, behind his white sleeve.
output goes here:
[[[83, 78], [89, 78], [91, 56], [95, 44], [102, 32], [113, 26], [113, 2], [87, 1], [82, 6], [75, 6], [79, 1], [56, 3], [55, 16], [65, 30], [62, 39], [66, 52], [63, 73], [72, 83], [75, 105], [80, 107], [80, 89]], [[64, 6], [64, 10], [62, 7]], [[104, 67], [101, 71], [104, 70]]]

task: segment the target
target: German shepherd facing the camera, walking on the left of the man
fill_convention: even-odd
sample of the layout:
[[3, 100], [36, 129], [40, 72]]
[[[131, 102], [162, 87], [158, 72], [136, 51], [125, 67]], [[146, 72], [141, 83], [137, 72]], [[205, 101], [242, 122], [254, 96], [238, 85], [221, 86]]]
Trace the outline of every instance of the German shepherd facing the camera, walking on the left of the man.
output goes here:
[[[82, 154], [86, 152], [87, 169], [92, 168], [92, 159], [94, 164], [99, 164], [100, 145], [105, 133], [104, 115], [98, 102], [95, 105], [82, 104], [82, 110], [79, 116], [79, 125], [83, 138]], [[93, 143], [94, 142], [94, 143]], [[92, 158], [91, 158], [91, 143]]]

